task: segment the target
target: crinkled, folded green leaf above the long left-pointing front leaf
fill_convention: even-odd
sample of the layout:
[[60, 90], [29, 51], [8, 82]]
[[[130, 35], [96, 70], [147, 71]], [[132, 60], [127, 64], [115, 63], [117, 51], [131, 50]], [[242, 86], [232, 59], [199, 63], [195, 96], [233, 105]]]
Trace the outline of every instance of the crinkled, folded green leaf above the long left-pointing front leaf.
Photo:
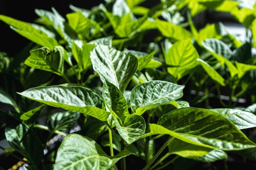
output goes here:
[[25, 64], [57, 75], [64, 73], [64, 50], [62, 46], [55, 46], [53, 51], [48, 47], [41, 47], [30, 51]]

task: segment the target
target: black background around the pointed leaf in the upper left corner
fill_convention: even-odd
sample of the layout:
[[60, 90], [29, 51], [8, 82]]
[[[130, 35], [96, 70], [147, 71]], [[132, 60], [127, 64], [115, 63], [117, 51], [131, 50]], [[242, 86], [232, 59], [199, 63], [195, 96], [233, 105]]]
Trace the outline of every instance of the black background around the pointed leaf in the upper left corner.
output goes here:
[[[52, 7], [58, 11], [64, 18], [67, 13], [71, 13], [69, 5], [83, 9], [91, 9], [104, 0], [0, 0], [0, 15], [6, 15], [11, 18], [34, 23], [38, 18], [35, 9], [44, 9], [52, 11]], [[9, 25], [0, 20], [0, 51], [6, 52], [13, 56], [21, 51], [30, 41], [13, 31]]]

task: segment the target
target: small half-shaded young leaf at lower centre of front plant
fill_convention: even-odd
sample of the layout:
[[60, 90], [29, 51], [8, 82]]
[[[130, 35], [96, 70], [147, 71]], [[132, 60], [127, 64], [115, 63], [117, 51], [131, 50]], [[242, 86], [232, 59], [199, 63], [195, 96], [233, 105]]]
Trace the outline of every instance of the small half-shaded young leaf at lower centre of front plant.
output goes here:
[[128, 115], [124, 119], [124, 124], [121, 126], [119, 121], [115, 119], [115, 124], [119, 135], [126, 141], [127, 144], [132, 144], [139, 139], [146, 130], [146, 122], [142, 116]]

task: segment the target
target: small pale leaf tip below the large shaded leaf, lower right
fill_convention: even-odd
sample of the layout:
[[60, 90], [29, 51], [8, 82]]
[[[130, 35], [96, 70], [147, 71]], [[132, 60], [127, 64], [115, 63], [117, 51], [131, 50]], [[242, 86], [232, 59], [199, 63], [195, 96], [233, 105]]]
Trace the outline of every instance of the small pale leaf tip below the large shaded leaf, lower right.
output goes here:
[[214, 162], [221, 159], [227, 159], [227, 154], [223, 150], [213, 149], [203, 157], [195, 158], [196, 161]]

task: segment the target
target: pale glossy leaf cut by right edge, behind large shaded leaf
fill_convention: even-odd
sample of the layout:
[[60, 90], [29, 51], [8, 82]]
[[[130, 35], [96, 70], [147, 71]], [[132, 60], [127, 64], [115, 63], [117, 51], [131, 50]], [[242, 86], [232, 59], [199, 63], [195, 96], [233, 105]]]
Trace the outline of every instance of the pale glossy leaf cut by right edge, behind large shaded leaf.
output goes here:
[[214, 108], [211, 110], [222, 114], [239, 129], [256, 127], [256, 115], [250, 112], [231, 108]]

